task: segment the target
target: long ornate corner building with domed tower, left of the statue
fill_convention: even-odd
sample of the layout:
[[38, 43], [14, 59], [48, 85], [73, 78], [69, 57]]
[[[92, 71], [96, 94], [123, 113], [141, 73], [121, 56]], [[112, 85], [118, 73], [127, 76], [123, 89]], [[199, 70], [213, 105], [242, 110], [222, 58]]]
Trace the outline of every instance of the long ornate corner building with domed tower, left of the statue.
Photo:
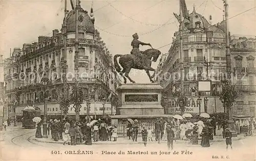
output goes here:
[[[79, 7], [78, 32], [78, 82], [82, 87], [84, 99], [94, 91], [91, 102], [91, 115], [102, 115], [102, 98], [113, 97], [117, 99], [116, 88], [120, 78], [114, 69], [112, 55], [101, 40], [100, 34], [94, 29], [94, 17]], [[5, 60], [5, 80], [7, 83], [7, 98], [11, 112], [16, 102], [16, 114], [22, 115], [25, 106], [34, 104], [44, 112], [44, 93], [50, 95], [48, 115], [60, 115], [58, 101], [64, 91], [62, 73], [65, 71], [63, 62], [67, 61], [67, 84], [75, 85], [75, 36], [76, 17], [75, 10], [67, 13], [67, 55], [64, 56], [63, 35], [65, 26], [62, 24], [60, 31], [53, 30], [52, 36], [39, 36], [38, 42], [23, 44], [23, 48], [14, 48], [10, 58]], [[65, 60], [66, 58], [66, 60]], [[49, 82], [42, 85], [41, 78], [46, 75]], [[45, 88], [47, 87], [47, 88]], [[111, 98], [112, 99], [112, 98]], [[105, 114], [115, 114], [113, 103], [106, 101]], [[109, 105], [108, 105], [109, 104]], [[112, 110], [108, 110], [112, 104]], [[83, 115], [82, 104], [80, 114]], [[68, 115], [74, 115], [73, 105], [70, 106]], [[100, 110], [101, 109], [101, 110]], [[113, 110], [114, 109], [114, 110]]]

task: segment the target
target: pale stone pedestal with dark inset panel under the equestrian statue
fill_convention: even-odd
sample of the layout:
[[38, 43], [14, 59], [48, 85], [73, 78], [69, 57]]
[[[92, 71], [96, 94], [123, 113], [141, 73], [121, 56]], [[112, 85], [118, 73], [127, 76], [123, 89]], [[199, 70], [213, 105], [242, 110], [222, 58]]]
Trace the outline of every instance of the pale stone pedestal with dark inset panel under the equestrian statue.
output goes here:
[[[117, 88], [119, 107], [115, 119], [155, 119], [164, 115], [161, 105], [162, 87], [159, 84], [123, 84]], [[172, 115], [169, 115], [169, 117]], [[119, 122], [119, 121], [118, 121]]]

